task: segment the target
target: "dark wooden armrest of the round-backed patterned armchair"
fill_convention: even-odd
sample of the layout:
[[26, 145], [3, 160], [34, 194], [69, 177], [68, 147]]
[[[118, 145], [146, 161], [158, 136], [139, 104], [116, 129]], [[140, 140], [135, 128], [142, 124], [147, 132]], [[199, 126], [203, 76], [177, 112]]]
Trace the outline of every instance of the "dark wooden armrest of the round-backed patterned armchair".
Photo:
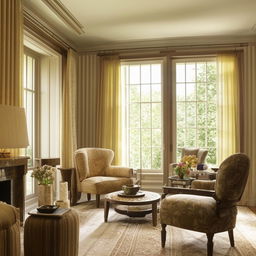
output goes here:
[[214, 190], [206, 190], [206, 189], [190, 189], [190, 188], [178, 188], [178, 187], [163, 187], [163, 195], [162, 198], [165, 198], [167, 194], [190, 194], [190, 195], [198, 195], [198, 196], [209, 196], [215, 198]]

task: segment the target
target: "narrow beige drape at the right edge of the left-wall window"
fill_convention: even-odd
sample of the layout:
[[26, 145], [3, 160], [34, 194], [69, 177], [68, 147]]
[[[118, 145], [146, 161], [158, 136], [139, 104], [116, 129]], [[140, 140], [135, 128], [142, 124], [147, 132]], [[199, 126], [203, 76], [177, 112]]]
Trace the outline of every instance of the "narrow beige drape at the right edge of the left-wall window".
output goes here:
[[62, 87], [62, 127], [61, 127], [61, 166], [74, 167], [74, 151], [76, 141], [76, 86], [77, 55], [68, 50], [67, 59], [63, 60]]

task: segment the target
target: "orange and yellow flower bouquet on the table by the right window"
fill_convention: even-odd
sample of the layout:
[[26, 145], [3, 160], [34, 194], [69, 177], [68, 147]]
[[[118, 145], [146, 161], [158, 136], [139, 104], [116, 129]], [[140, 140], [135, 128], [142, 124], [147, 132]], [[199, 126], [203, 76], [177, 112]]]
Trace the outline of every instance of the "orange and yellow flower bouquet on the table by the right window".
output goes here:
[[175, 167], [176, 174], [183, 179], [184, 176], [188, 176], [190, 169], [197, 165], [198, 159], [194, 155], [184, 156]]

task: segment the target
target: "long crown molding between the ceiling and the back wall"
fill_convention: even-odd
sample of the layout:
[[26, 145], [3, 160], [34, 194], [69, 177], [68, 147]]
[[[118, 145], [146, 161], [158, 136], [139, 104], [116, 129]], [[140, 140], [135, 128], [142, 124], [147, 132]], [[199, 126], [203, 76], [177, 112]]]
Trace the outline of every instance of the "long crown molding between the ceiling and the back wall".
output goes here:
[[111, 50], [129, 50], [129, 49], [149, 49], [162, 47], [201, 47], [201, 46], [216, 46], [227, 44], [244, 44], [256, 42], [256, 35], [249, 36], [196, 36], [196, 37], [181, 37], [181, 38], [163, 38], [163, 39], [147, 39], [139, 41], [122, 41], [105, 44], [97, 44], [94, 46], [88, 45], [78, 47], [79, 52], [96, 52], [96, 51], [111, 51]]

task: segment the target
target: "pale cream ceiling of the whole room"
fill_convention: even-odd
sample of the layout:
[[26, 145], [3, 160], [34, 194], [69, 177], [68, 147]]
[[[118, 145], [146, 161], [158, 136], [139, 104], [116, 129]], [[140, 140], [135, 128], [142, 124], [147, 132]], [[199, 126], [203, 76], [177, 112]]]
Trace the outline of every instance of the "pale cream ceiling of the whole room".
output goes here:
[[[24, 0], [79, 50], [177, 38], [256, 35], [255, 0]], [[52, 6], [56, 5], [58, 8]], [[73, 18], [71, 23], [68, 19]], [[74, 29], [76, 22], [79, 29]], [[70, 25], [71, 24], [71, 25]], [[78, 31], [80, 30], [80, 31]], [[82, 32], [82, 30], [84, 32]], [[82, 32], [82, 33], [81, 33]]]

